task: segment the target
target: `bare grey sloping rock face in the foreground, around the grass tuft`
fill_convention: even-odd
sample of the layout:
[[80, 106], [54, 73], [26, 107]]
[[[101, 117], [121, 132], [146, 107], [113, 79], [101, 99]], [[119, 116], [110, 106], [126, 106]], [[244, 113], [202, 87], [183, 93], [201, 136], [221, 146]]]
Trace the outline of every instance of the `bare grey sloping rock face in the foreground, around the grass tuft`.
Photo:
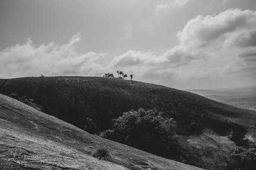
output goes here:
[[[105, 145], [113, 162], [92, 153]], [[201, 169], [89, 134], [0, 94], [0, 169]]]

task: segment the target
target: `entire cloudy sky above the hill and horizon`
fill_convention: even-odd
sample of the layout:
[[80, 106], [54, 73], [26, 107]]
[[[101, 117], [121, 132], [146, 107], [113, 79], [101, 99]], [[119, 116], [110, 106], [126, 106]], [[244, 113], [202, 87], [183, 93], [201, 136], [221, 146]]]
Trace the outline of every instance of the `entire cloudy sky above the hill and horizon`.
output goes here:
[[256, 85], [255, 0], [0, 0], [0, 78]]

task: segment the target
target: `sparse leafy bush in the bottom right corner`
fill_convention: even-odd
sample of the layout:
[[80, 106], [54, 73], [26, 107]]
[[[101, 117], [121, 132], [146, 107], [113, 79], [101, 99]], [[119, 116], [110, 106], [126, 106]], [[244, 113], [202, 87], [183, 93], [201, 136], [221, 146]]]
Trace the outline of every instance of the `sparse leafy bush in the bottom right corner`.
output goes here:
[[238, 159], [239, 168], [252, 170], [256, 167], [256, 148], [245, 149], [237, 147], [231, 151], [231, 155]]

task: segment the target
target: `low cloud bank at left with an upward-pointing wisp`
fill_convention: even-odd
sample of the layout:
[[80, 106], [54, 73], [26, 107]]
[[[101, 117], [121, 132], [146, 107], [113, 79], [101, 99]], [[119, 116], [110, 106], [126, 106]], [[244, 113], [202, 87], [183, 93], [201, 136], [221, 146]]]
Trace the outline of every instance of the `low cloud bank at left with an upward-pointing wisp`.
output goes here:
[[80, 33], [72, 36], [68, 43], [58, 45], [55, 42], [35, 46], [27, 39], [24, 44], [16, 44], [0, 51], [0, 77], [25, 77], [52, 75], [95, 75], [101, 65], [95, 62], [105, 54], [89, 52], [78, 54], [76, 44]]

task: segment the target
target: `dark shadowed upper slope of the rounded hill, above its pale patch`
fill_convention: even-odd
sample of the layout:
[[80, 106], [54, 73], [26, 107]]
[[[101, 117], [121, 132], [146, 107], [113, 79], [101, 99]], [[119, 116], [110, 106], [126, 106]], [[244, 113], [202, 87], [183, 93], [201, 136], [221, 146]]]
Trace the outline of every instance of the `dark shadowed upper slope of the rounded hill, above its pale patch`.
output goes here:
[[[100, 77], [44, 77], [1, 80], [0, 92], [30, 98], [42, 111], [83, 128], [86, 117], [99, 131], [131, 109], [157, 109], [187, 126], [206, 119], [255, 125], [255, 112], [206, 99], [200, 95], [160, 85]], [[208, 126], [208, 122], [205, 126]], [[214, 126], [214, 125], [212, 125]], [[184, 131], [185, 129], [183, 129]]]

